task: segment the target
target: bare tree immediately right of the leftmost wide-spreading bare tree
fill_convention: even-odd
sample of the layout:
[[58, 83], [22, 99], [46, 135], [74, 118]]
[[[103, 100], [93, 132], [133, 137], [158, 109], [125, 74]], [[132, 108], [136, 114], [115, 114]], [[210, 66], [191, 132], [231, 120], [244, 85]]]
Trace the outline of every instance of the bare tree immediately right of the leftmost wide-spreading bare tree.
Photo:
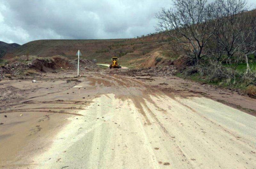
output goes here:
[[[219, 22], [214, 31], [216, 46], [228, 56], [229, 63], [232, 63], [234, 53], [240, 51], [244, 45], [244, 41], [241, 41], [241, 33], [247, 26], [244, 21], [246, 3], [246, 0], [216, 0], [214, 2], [216, 7], [214, 16]], [[217, 57], [220, 58], [223, 52], [220, 52]]]

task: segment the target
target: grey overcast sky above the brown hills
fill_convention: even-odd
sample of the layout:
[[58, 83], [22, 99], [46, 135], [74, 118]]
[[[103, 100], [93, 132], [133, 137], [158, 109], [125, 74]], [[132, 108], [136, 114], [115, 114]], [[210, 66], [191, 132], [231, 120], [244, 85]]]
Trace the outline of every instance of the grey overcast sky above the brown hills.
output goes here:
[[134, 38], [156, 32], [161, 7], [171, 1], [0, 0], [0, 41]]

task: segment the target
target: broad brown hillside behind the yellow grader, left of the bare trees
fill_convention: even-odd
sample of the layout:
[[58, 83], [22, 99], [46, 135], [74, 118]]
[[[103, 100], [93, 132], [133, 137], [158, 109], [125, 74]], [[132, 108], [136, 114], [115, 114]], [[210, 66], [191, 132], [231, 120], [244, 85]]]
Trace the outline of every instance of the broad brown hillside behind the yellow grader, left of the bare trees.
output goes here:
[[[163, 33], [158, 33], [137, 39], [36, 40], [17, 47], [12, 53], [6, 54], [5, 58], [22, 55], [38, 57], [61, 55], [74, 59], [79, 49], [82, 58], [96, 59], [98, 63], [109, 63], [112, 56], [118, 56], [124, 66], [148, 67], [163, 64], [171, 59], [164, 54], [166, 39]], [[150, 64], [145, 65], [149, 60]]]

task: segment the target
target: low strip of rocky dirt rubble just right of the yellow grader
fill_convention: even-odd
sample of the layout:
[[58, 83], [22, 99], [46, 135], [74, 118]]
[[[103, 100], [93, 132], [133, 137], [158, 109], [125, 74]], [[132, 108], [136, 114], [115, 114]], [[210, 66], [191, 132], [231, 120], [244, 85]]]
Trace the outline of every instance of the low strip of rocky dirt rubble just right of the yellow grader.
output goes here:
[[177, 68], [174, 65], [163, 67], [148, 67], [141, 69], [125, 69], [117, 72], [112, 71], [113, 74], [137, 75], [137, 76], [173, 76], [177, 73]]

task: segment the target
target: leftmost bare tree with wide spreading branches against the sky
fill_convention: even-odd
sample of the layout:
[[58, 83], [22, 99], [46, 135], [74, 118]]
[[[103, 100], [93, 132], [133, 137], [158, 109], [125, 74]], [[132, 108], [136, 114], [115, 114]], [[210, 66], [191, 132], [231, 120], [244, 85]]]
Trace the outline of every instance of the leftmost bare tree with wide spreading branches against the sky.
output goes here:
[[167, 32], [182, 44], [187, 55], [196, 64], [205, 56], [204, 47], [215, 31], [218, 22], [213, 20], [214, 3], [207, 0], [174, 0], [173, 8], [156, 14], [159, 19], [156, 29]]

